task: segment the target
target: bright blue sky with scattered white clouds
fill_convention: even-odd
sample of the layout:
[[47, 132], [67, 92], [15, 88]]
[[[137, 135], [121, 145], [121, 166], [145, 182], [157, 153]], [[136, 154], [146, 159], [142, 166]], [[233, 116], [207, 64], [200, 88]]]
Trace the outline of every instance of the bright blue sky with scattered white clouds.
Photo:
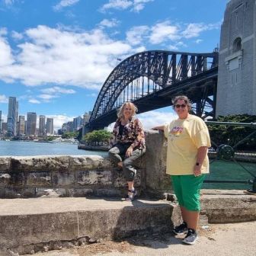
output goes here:
[[[93, 109], [117, 59], [145, 50], [210, 53], [228, 0], [0, 0], [0, 110], [54, 118], [54, 128]], [[138, 115], [145, 128], [171, 107]], [[38, 126], [38, 123], [37, 123]]]

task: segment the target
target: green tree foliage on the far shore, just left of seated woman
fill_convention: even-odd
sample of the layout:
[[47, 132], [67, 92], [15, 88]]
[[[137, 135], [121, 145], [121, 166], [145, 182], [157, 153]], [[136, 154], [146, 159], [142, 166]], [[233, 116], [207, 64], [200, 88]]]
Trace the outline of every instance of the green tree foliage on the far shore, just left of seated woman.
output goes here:
[[94, 130], [91, 133], [86, 133], [82, 140], [89, 145], [108, 144], [111, 133], [107, 130]]

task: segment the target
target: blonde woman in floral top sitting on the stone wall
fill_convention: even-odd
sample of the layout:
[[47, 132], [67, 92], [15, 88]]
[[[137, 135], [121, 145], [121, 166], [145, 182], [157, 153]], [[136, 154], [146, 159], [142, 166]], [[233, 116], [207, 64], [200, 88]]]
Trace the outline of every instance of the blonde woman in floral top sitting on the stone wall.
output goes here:
[[137, 107], [131, 102], [125, 102], [117, 112], [117, 121], [114, 125], [113, 136], [110, 139], [108, 154], [123, 172], [128, 184], [126, 200], [132, 201], [137, 192], [134, 189], [136, 168], [134, 162], [145, 151], [145, 135], [142, 123], [135, 117]]

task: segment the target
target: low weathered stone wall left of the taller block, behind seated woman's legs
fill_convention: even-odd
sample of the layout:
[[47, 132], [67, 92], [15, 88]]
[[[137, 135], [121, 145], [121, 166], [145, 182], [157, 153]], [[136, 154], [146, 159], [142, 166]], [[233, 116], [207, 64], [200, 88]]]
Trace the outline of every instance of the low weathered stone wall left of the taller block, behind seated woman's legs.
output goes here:
[[124, 187], [123, 172], [98, 155], [0, 158], [0, 197], [113, 196]]

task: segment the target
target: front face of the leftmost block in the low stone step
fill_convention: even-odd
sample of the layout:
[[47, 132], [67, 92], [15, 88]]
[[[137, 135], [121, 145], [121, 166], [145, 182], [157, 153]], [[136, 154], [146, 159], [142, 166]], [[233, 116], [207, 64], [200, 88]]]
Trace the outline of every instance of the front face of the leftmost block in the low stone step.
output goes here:
[[0, 222], [0, 248], [15, 248], [53, 239], [67, 241], [78, 237], [75, 212], [0, 216]]

